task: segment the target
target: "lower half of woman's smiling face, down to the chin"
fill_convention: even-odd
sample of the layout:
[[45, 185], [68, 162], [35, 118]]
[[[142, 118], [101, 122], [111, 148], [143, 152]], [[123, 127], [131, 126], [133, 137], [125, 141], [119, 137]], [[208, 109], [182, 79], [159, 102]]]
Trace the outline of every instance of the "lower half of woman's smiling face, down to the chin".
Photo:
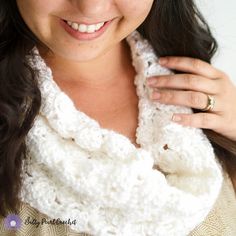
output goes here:
[[[54, 54], [82, 62], [103, 55], [118, 45], [145, 20], [154, 0], [16, 0], [16, 2], [25, 23]], [[68, 28], [69, 25], [63, 20], [88, 25], [109, 20], [112, 22], [101, 35], [85, 40], [81, 36], [79, 38], [72, 36], [69, 32], [74, 30]], [[75, 28], [80, 27], [81, 30], [87, 28], [83, 25], [73, 25]], [[89, 28], [92, 30], [93, 27]]]

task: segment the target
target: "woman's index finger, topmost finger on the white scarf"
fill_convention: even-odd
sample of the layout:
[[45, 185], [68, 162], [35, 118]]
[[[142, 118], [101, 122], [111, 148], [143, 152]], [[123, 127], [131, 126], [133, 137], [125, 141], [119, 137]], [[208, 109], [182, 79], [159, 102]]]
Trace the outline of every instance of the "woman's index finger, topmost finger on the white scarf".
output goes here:
[[225, 76], [222, 71], [216, 69], [211, 64], [191, 57], [162, 57], [159, 59], [159, 63], [171, 69], [186, 71], [211, 79]]

